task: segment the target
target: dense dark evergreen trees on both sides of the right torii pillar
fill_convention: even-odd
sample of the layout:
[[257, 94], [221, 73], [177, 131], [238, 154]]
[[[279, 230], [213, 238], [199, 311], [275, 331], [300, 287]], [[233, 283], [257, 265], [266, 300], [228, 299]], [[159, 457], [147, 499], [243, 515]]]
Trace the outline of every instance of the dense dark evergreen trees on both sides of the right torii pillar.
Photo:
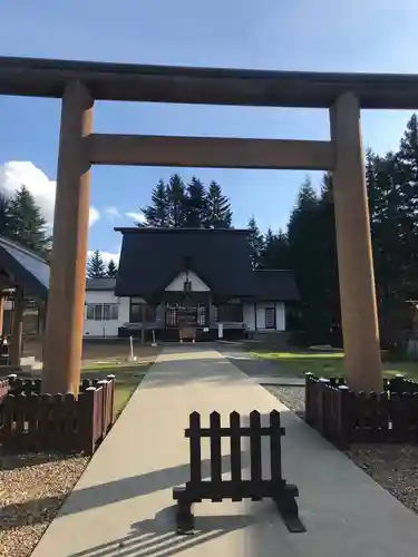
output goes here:
[[[383, 348], [399, 348], [418, 295], [418, 119], [412, 115], [396, 153], [366, 155], [370, 226], [380, 334]], [[305, 342], [336, 342], [340, 296], [332, 177], [317, 193], [300, 187], [288, 231], [261, 234], [249, 222], [255, 268], [292, 268], [301, 295], [293, 326]], [[337, 335], [338, 336], [338, 335]]]

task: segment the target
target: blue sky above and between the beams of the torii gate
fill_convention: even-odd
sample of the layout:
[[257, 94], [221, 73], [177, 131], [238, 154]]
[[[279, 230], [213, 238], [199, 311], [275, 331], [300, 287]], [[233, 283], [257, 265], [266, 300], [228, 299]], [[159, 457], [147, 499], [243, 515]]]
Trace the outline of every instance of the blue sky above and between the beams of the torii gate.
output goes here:
[[[118, 62], [311, 71], [418, 72], [416, 0], [1, 0], [0, 53]], [[418, 99], [417, 99], [418, 107]], [[364, 111], [364, 144], [397, 148], [410, 111]], [[0, 165], [30, 162], [54, 180], [59, 101], [0, 97]], [[328, 139], [324, 110], [98, 102], [95, 129], [108, 133]], [[93, 170], [90, 248], [117, 253], [115, 225], [130, 225], [171, 168]], [[4, 174], [4, 173], [3, 173]], [[185, 169], [217, 180], [234, 224], [254, 214], [285, 226], [307, 173]], [[315, 183], [320, 174], [311, 174]], [[39, 177], [39, 176], [38, 176]], [[1, 174], [0, 174], [1, 179]], [[30, 177], [27, 178], [30, 180]], [[36, 180], [35, 180], [36, 182]], [[47, 180], [43, 183], [49, 184]], [[54, 184], [49, 184], [54, 189]], [[48, 187], [49, 187], [48, 186]], [[33, 186], [36, 189], [36, 184]], [[42, 190], [43, 196], [48, 192]], [[113, 215], [109, 214], [111, 207]], [[116, 215], [116, 209], [118, 215]], [[111, 211], [110, 211], [111, 213]]]

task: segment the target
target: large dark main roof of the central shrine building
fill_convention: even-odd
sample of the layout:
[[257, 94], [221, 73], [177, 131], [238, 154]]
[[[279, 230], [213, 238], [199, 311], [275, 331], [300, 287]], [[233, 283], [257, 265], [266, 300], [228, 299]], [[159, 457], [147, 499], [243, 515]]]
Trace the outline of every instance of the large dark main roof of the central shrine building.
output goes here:
[[211, 228], [115, 228], [124, 235], [117, 296], [149, 297], [189, 266], [220, 296], [251, 296], [247, 231]]

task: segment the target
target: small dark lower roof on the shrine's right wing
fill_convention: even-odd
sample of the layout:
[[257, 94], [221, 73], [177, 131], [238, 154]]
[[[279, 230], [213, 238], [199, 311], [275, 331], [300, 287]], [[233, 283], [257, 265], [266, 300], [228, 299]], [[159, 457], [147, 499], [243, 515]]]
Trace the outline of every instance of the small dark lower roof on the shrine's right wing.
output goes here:
[[256, 297], [263, 301], [295, 302], [299, 300], [293, 272], [257, 270], [254, 271]]

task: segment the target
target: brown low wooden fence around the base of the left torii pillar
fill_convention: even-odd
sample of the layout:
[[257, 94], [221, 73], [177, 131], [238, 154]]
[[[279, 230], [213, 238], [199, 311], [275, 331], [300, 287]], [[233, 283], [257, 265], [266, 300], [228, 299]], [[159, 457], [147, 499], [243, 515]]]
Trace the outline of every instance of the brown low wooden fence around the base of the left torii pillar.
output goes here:
[[71, 393], [40, 392], [40, 380], [10, 375], [0, 381], [0, 443], [3, 448], [93, 455], [115, 421], [115, 377], [82, 381], [78, 398]]

